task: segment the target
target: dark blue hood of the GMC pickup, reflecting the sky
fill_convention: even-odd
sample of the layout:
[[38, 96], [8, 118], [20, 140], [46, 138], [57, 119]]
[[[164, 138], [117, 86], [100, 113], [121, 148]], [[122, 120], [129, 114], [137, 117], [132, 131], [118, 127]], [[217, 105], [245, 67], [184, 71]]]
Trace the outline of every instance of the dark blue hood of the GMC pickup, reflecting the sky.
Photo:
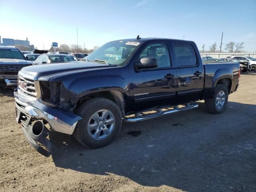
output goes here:
[[48, 81], [50, 78], [56, 77], [58, 75], [70, 73], [76, 74], [86, 70], [98, 70], [109, 67], [112, 66], [96, 62], [75, 61], [28, 66], [22, 68], [19, 74], [34, 80]]

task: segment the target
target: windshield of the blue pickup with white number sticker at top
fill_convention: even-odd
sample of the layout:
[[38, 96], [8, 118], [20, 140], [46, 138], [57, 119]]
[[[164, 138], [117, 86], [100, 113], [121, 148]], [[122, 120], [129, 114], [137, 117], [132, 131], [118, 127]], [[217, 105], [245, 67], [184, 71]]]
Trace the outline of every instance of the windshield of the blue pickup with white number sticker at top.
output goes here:
[[87, 61], [123, 66], [140, 42], [109, 42], [86, 57]]

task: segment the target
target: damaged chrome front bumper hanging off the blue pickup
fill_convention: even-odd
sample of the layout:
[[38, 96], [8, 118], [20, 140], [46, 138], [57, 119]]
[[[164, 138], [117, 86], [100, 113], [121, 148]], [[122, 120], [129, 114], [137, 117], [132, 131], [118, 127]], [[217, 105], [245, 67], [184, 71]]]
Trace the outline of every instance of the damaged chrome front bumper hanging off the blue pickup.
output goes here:
[[[18, 94], [17, 89], [14, 90], [14, 97], [16, 102], [16, 121], [22, 124], [22, 131], [28, 142], [44, 156], [50, 156], [56, 150], [56, 147], [46, 138], [50, 130], [44, 126], [44, 122], [50, 125], [50, 129], [72, 134], [76, 124], [82, 119], [80, 116], [48, 102], [26, 100], [26, 98]], [[38, 128], [34, 126], [38, 120], [42, 122], [42, 128], [39, 132]], [[46, 149], [42, 148], [39, 143]]]

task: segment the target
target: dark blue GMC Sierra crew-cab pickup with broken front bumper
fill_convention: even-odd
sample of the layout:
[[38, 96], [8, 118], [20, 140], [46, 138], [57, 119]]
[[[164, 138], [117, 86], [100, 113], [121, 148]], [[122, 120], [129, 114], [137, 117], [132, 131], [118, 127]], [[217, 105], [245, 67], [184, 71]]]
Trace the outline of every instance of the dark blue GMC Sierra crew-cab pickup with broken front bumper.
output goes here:
[[86, 147], [102, 147], [116, 138], [123, 119], [138, 122], [190, 110], [198, 100], [209, 112], [223, 112], [239, 77], [238, 63], [202, 64], [192, 41], [116, 40], [83, 61], [22, 68], [14, 91], [16, 121], [45, 156], [56, 150], [46, 138], [50, 130], [73, 134]]

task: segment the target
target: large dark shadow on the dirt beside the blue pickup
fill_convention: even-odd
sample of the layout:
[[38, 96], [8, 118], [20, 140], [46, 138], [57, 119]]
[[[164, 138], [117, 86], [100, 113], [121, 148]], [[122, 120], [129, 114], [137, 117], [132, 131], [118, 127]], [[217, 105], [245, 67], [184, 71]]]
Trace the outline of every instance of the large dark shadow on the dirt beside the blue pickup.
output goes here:
[[[198, 104], [195, 110], [123, 122], [118, 138], [99, 149], [84, 148], [73, 136], [51, 132], [50, 140], [58, 148], [53, 161], [79, 172], [125, 176], [143, 186], [185, 191], [256, 187], [256, 176], [248, 171], [256, 162], [256, 120], [250, 115], [256, 114], [256, 106], [229, 102], [224, 113], [214, 115], [205, 112], [203, 102]], [[241, 113], [246, 118], [234, 121]], [[254, 150], [243, 149], [248, 142]]]

